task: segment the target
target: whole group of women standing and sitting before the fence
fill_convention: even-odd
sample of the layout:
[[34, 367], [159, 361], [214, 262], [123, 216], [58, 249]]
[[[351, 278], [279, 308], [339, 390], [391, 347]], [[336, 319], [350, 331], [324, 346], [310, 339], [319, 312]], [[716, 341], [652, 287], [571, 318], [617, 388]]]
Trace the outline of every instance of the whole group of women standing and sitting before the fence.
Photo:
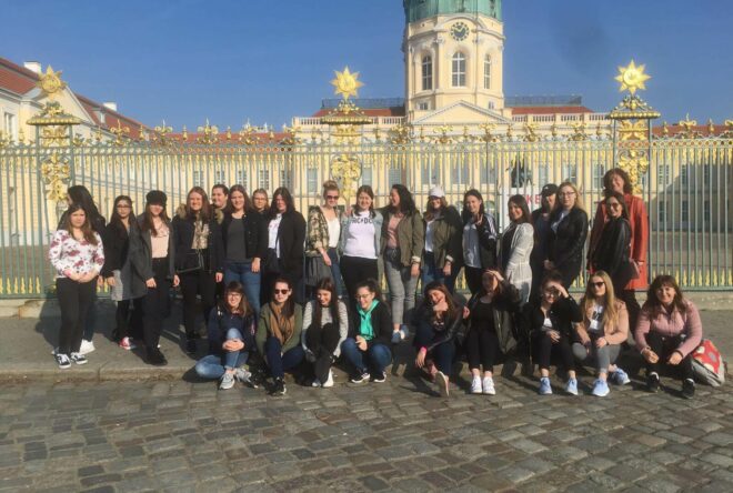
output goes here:
[[[519, 354], [540, 366], [541, 394], [552, 393], [554, 358], [568, 393], [578, 394], [576, 366], [590, 364], [592, 393], [604, 396], [608, 382], [629, 383], [615, 361], [633, 330], [649, 389], [659, 389], [661, 365], [669, 364], [682, 370], [683, 394], [694, 394], [690, 354], [701, 341], [700, 316], [669, 275], [654, 279], [643, 306], [636, 302], [635, 290], [647, 288], [649, 227], [623, 170], [604, 177], [588, 252], [589, 218], [571, 182], [544, 185], [533, 212], [524, 195], [511, 197], [501, 234], [475, 189], [464, 193], [461, 212], [440, 187], [430, 190], [424, 212], [402, 184], [381, 209], [369, 185], [345, 210], [334, 181], [323, 184], [322, 197], [304, 218], [287, 188], [269, 201], [261, 189], [250, 200], [239, 184], [218, 184], [210, 201], [194, 187], [171, 220], [165, 193], [155, 190], [139, 217], [129, 197], [118, 197], [106, 224], [89, 191], [71, 187], [49, 251], [62, 310], [59, 366], [87, 362], [96, 288], [107, 283], [117, 301], [116, 340], [125, 350], [142, 342], [153, 365], [167, 363], [159, 339], [171, 288], [179, 286], [185, 350], [198, 351], [202, 314], [209, 354], [195, 371], [221, 389], [259, 383], [244, 368], [251, 356], [275, 394], [285, 393], [288, 371], [308, 369], [313, 386], [333, 385], [339, 358], [351, 382], [384, 382], [393, 344], [414, 333], [414, 364], [442, 395], [461, 355], [470, 392], [494, 394], [494, 364]], [[579, 304], [568, 290], [584, 264]], [[468, 302], [455, 293], [461, 270]]]

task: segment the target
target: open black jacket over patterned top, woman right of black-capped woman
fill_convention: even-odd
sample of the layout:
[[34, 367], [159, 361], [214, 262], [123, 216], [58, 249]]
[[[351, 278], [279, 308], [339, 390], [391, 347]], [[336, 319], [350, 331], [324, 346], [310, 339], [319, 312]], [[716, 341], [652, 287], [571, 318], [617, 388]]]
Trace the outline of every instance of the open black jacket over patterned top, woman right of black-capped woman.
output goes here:
[[[224, 271], [224, 247], [217, 214], [221, 214], [221, 212], [214, 211], [214, 215], [209, 220], [209, 238], [207, 242], [209, 258], [204, 259], [204, 266], [208, 268], [209, 273]], [[179, 208], [172, 224], [173, 243], [175, 245], [175, 270], [191, 269], [197, 262], [193, 255], [194, 250], [191, 248], [193, 244], [194, 224], [193, 219], [187, 215], [185, 207]]]

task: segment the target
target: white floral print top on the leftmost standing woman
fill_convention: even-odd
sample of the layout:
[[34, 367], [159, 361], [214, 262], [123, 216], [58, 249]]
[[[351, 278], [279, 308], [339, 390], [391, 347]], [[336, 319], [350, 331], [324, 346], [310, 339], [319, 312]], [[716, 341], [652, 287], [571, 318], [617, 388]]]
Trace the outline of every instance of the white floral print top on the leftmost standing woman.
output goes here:
[[57, 230], [51, 240], [49, 260], [56, 269], [56, 276], [66, 278], [63, 271], [71, 270], [78, 274], [91, 271], [100, 272], [104, 265], [104, 248], [102, 239], [94, 232], [97, 244], [87, 240], [78, 241], [67, 230]]

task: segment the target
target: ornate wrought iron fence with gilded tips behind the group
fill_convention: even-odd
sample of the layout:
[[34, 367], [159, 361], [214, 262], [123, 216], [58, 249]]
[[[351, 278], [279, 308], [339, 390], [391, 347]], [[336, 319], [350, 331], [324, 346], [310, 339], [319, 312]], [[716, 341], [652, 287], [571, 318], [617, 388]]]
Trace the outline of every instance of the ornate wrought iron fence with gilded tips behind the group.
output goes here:
[[[460, 140], [460, 139], [459, 139]], [[0, 147], [0, 298], [44, 295], [52, 284], [46, 260], [66, 187], [86, 185], [106, 217], [114, 197], [130, 195], [140, 212], [144, 194], [169, 194], [170, 212], [193, 185], [241, 183], [247, 190], [288, 187], [297, 208], [320, 201], [321, 183], [340, 180], [353, 194], [370, 184], [386, 203], [391, 184], [404, 183], [420, 208], [441, 184], [460, 205], [472, 188], [508, 224], [505, 203], [515, 193], [539, 207], [549, 182], [572, 181], [592, 218], [602, 177], [614, 167], [612, 140], [328, 142], [288, 144], [74, 142], [56, 147]], [[686, 289], [733, 288], [731, 174], [733, 139], [655, 139], [642, 175], [650, 215], [651, 275], [669, 272]], [[582, 283], [582, 280], [580, 281]]]

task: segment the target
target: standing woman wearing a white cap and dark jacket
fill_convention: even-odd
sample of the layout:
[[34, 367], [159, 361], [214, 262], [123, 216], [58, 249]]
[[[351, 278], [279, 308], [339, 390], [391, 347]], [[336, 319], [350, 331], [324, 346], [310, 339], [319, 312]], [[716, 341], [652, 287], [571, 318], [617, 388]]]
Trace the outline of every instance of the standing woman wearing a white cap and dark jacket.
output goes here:
[[423, 249], [422, 285], [432, 281], [445, 284], [451, 293], [455, 276], [461, 270], [461, 245], [463, 225], [453, 205], [445, 201], [445, 192], [433, 187], [428, 197], [425, 220], [425, 245]]

